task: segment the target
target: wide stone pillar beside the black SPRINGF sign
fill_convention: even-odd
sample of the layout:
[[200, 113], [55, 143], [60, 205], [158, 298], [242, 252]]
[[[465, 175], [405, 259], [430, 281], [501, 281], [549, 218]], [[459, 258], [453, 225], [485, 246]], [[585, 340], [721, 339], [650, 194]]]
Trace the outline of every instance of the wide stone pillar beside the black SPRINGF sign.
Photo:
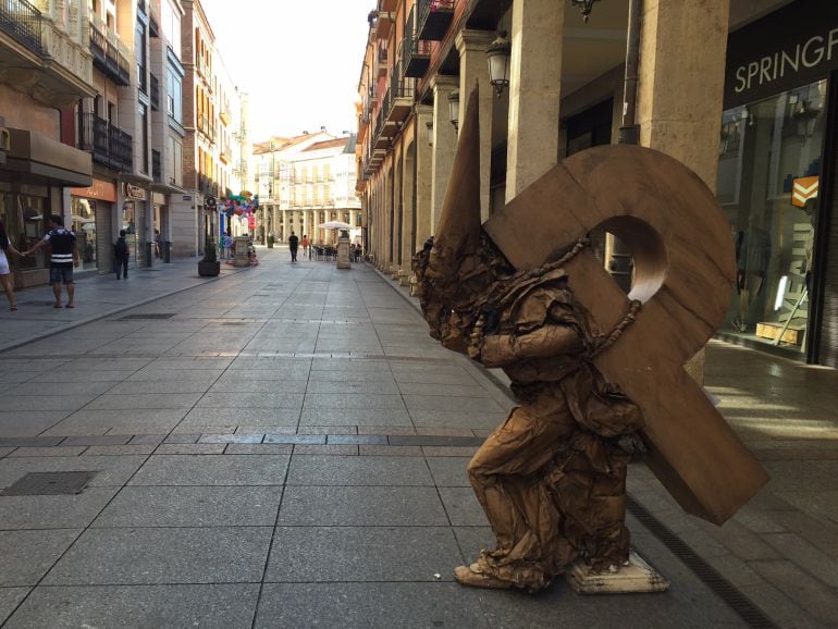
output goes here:
[[[644, 0], [640, 144], [673, 156], [716, 189], [729, 0]], [[693, 44], [686, 44], [693, 42]], [[704, 380], [704, 350], [687, 372]]]

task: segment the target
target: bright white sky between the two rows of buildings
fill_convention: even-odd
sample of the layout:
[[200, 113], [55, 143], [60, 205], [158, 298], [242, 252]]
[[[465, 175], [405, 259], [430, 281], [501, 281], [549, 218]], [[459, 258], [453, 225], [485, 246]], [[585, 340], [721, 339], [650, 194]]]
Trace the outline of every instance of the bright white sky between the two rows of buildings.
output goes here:
[[357, 131], [355, 101], [375, 0], [201, 0], [250, 138]]

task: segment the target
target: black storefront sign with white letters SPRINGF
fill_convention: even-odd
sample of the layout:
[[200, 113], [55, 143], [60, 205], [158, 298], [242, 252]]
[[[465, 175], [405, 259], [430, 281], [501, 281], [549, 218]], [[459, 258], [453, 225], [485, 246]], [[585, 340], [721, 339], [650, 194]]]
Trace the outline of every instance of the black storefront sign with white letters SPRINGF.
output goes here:
[[725, 109], [824, 78], [838, 69], [838, 2], [798, 0], [730, 34]]

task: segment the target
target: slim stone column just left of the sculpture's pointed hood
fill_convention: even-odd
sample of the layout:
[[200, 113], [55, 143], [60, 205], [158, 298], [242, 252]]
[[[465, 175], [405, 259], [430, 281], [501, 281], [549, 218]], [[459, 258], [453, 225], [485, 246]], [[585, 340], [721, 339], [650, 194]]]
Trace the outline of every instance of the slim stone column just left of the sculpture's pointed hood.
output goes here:
[[454, 150], [457, 146], [457, 132], [448, 120], [448, 95], [457, 88], [458, 83], [453, 76], [438, 74], [431, 79], [431, 85], [433, 87], [431, 233], [434, 233], [442, 212], [442, 201], [445, 198], [445, 188], [448, 186], [451, 168], [454, 163]]

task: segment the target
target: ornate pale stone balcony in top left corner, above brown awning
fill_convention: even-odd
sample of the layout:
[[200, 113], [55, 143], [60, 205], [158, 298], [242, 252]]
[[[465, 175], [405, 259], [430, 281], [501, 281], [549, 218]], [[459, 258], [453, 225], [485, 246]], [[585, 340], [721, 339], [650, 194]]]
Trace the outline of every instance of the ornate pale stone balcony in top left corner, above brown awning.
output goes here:
[[3, 83], [51, 107], [96, 94], [87, 41], [82, 42], [26, 0], [0, 2]]

